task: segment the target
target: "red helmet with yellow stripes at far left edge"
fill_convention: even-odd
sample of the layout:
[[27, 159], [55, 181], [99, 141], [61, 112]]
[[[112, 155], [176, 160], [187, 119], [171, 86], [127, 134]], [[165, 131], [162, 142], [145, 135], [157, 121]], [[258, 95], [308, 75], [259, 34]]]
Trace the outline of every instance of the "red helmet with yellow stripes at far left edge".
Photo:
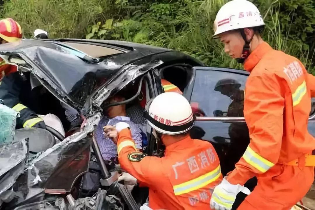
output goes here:
[[22, 39], [22, 28], [12, 18], [0, 20], [0, 38], [7, 42], [15, 42]]

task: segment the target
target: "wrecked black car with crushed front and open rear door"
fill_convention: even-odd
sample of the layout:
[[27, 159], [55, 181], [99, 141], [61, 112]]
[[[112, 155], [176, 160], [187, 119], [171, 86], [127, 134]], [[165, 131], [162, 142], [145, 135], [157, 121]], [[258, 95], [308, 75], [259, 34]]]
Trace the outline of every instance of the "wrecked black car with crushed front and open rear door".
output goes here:
[[[117, 182], [121, 171], [117, 163], [103, 160], [94, 131], [106, 108], [126, 104], [148, 139], [143, 151], [163, 156], [163, 145], [143, 117], [146, 102], [163, 92], [161, 79], [191, 102], [197, 116], [191, 136], [214, 145], [223, 175], [234, 169], [249, 143], [244, 71], [204, 67], [174, 50], [107, 40], [25, 39], [1, 45], [0, 56], [29, 81], [30, 108], [58, 116], [65, 131], [19, 129], [13, 143], [0, 147], [1, 209], [139, 209], [148, 190], [130, 192]], [[110, 103], [119, 91], [129, 96]], [[252, 179], [245, 186], [253, 190], [255, 185]], [[239, 196], [233, 209], [243, 199]]]

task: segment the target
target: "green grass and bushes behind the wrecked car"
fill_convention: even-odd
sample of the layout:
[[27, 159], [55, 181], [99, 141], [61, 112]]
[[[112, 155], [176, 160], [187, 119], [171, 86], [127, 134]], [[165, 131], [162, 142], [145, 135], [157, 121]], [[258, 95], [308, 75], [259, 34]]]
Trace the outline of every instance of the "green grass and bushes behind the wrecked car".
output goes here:
[[[206, 65], [241, 68], [212, 38], [213, 21], [227, 0], [10, 0], [3, 16], [13, 17], [31, 36], [115, 39], [180, 50]], [[267, 24], [263, 37], [301, 59], [315, 73], [312, 0], [253, 0]]]

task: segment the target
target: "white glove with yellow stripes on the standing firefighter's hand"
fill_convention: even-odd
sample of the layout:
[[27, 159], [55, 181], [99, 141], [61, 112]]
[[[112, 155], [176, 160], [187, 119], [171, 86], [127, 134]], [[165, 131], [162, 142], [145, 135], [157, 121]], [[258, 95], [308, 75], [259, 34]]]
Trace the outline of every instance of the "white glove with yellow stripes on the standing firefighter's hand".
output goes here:
[[240, 184], [231, 184], [224, 177], [211, 195], [210, 207], [215, 210], [231, 210], [236, 195], [242, 190], [248, 194], [249, 190], [246, 187]]

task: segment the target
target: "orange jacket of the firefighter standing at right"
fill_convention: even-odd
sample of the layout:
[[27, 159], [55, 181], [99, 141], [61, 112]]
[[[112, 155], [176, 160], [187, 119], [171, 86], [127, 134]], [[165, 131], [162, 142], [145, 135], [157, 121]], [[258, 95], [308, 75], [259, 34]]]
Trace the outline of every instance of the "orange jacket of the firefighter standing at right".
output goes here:
[[277, 163], [297, 163], [315, 149], [307, 131], [315, 78], [303, 64], [264, 42], [249, 55], [244, 69], [250, 72], [244, 100], [250, 143], [227, 178], [241, 185], [264, 176]]

